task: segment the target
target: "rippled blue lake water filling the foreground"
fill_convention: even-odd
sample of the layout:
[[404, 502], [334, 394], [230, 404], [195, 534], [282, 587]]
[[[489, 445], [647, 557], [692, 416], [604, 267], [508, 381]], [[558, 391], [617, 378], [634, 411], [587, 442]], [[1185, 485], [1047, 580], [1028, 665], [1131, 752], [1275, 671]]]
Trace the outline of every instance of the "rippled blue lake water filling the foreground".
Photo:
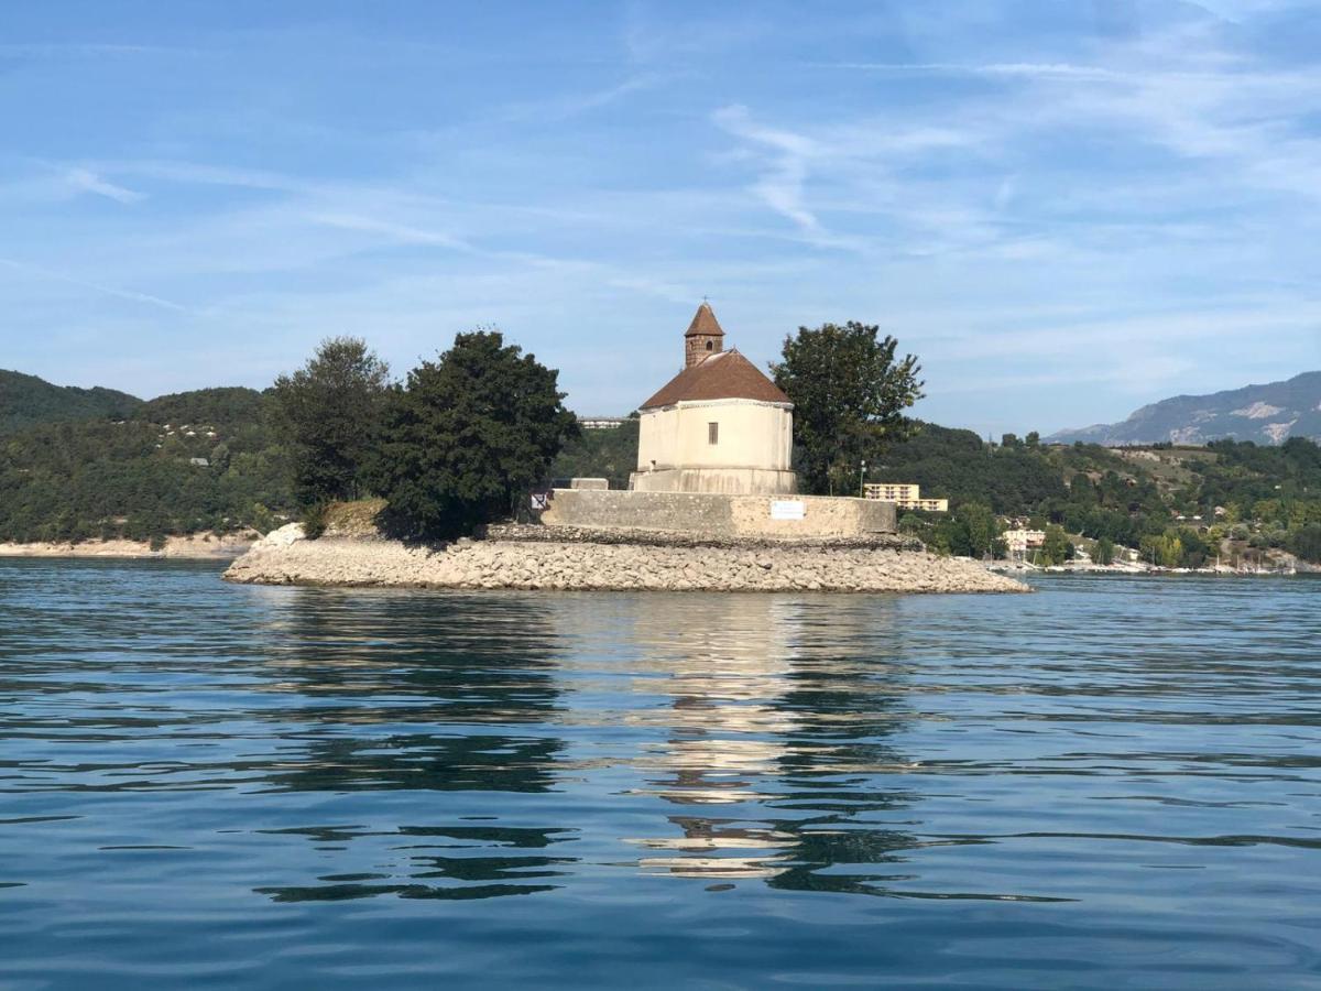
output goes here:
[[0, 560], [0, 986], [1321, 986], [1321, 581]]

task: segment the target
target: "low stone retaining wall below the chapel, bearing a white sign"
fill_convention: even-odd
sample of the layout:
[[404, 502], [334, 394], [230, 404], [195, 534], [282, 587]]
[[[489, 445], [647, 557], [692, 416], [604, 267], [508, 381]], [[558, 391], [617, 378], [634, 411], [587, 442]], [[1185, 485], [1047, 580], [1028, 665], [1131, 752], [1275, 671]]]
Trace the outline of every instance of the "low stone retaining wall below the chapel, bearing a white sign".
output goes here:
[[791, 540], [892, 534], [896, 510], [893, 502], [828, 495], [555, 489], [542, 523]]

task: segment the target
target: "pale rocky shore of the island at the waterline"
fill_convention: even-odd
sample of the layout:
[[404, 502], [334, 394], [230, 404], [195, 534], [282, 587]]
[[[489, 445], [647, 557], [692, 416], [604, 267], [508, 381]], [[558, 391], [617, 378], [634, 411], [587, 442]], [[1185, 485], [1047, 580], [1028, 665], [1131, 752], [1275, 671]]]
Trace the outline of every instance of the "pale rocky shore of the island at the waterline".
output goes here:
[[926, 551], [690, 547], [555, 540], [458, 540], [408, 546], [379, 536], [308, 540], [297, 525], [254, 544], [226, 581], [341, 588], [701, 592], [1022, 593], [982, 564]]

